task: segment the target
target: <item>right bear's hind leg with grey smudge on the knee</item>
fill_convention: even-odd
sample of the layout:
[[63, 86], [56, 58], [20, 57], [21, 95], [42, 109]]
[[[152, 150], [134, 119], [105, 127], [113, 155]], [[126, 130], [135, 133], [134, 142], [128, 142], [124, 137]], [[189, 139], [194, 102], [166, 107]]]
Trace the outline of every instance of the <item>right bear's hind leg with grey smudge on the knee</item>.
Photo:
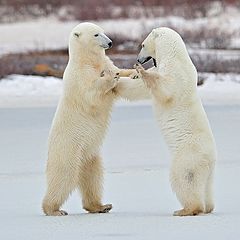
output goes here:
[[185, 170], [182, 176], [172, 176], [172, 187], [183, 209], [174, 216], [195, 216], [204, 212], [205, 176], [194, 170]]

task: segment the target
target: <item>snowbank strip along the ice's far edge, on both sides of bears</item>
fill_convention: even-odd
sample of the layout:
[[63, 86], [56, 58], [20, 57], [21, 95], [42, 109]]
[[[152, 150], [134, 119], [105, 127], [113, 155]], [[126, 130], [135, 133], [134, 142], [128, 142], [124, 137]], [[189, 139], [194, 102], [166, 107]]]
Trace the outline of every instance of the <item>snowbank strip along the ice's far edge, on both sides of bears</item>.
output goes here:
[[[198, 87], [205, 104], [240, 104], [240, 74], [200, 73], [205, 83]], [[11, 75], [0, 81], [0, 107], [55, 106], [62, 80], [54, 77]], [[129, 105], [119, 101], [118, 105]], [[151, 104], [149, 101], [131, 103]]]

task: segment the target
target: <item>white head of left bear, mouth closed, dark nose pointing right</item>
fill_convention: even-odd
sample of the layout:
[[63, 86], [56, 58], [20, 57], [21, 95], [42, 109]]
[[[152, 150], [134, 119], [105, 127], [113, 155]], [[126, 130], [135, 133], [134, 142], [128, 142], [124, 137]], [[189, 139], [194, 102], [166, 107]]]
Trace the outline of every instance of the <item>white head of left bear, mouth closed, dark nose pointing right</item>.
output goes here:
[[112, 47], [112, 40], [104, 34], [102, 28], [93, 23], [80, 23], [73, 28], [70, 34], [69, 48], [73, 51], [77, 49], [96, 51], [110, 47]]

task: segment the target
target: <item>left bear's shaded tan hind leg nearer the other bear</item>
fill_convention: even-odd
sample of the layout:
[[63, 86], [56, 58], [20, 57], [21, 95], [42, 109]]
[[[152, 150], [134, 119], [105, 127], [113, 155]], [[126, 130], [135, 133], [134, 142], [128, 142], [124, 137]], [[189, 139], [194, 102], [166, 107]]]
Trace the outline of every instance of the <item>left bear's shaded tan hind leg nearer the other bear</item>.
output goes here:
[[83, 208], [90, 213], [106, 213], [111, 204], [102, 205], [103, 167], [100, 156], [81, 163], [78, 188], [82, 195]]

